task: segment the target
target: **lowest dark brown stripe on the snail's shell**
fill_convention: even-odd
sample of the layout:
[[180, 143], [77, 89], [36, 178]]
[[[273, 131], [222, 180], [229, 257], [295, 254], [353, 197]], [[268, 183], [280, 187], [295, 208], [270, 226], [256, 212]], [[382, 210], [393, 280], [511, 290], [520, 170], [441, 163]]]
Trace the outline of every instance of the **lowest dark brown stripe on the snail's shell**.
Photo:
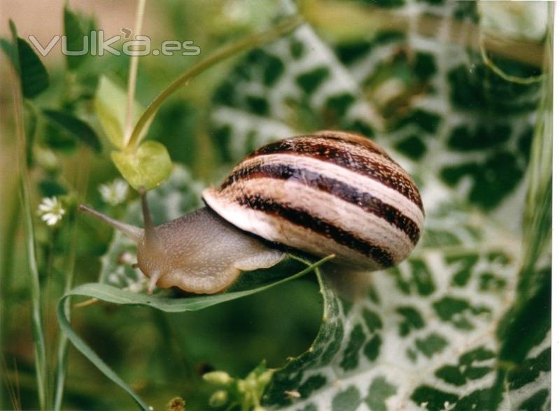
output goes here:
[[356, 236], [354, 233], [341, 229], [330, 222], [326, 222], [316, 215], [312, 215], [307, 210], [294, 207], [293, 204], [283, 204], [275, 199], [258, 194], [241, 194], [235, 198], [235, 201], [237, 201], [239, 206], [280, 217], [292, 224], [310, 229], [321, 236], [331, 238], [340, 245], [344, 245], [351, 250], [360, 252], [360, 254], [364, 254], [370, 259], [377, 261], [381, 267], [393, 266], [393, 257], [391, 257], [391, 253], [385, 250], [384, 247], [374, 245]]

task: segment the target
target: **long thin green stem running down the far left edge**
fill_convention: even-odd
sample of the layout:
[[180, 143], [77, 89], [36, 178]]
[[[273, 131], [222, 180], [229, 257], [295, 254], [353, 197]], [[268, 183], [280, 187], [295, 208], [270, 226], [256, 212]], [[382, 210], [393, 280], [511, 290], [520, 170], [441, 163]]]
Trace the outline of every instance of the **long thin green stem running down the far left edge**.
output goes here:
[[20, 199], [22, 201], [23, 223], [25, 227], [27, 265], [29, 271], [29, 287], [31, 294], [31, 326], [33, 328], [33, 343], [35, 355], [35, 370], [37, 377], [38, 402], [41, 410], [46, 409], [45, 387], [46, 387], [46, 364], [45, 364], [45, 336], [43, 333], [43, 319], [41, 310], [41, 286], [39, 285], [39, 275], [35, 251], [35, 234], [33, 217], [31, 213], [31, 182], [29, 170], [27, 169], [27, 151], [25, 138], [25, 124], [23, 121], [23, 96], [22, 85], [19, 78], [19, 55], [18, 55], [18, 34], [15, 26], [11, 24], [13, 33], [13, 44], [15, 62], [18, 67], [10, 65], [10, 82], [12, 85], [12, 97], [14, 105], [15, 134], [18, 147], [18, 169], [20, 173]]

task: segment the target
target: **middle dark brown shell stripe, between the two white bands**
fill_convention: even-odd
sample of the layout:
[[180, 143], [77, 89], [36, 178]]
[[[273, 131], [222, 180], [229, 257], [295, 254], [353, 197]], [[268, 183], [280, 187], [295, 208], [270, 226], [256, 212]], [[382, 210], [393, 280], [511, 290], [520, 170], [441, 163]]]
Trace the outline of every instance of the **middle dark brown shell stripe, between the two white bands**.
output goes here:
[[279, 180], [295, 180], [302, 185], [320, 189], [328, 192], [332, 196], [337, 197], [348, 203], [352, 203], [366, 212], [380, 217], [389, 224], [404, 232], [412, 244], [416, 245], [420, 236], [420, 229], [406, 215], [403, 215], [397, 208], [390, 206], [383, 201], [377, 199], [369, 193], [362, 192], [356, 187], [346, 184], [345, 182], [328, 178], [324, 175], [308, 170], [307, 168], [294, 167], [288, 164], [253, 164], [249, 167], [237, 169], [230, 177], [225, 180], [221, 189], [225, 189], [240, 180], [249, 180], [251, 178], [276, 178]]

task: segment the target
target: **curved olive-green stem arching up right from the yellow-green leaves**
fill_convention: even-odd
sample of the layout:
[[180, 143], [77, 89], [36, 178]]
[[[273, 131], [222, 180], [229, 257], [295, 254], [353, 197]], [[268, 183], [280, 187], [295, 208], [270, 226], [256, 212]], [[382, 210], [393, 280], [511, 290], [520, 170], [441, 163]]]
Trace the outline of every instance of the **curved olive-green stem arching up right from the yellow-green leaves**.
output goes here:
[[246, 38], [237, 41], [231, 45], [226, 45], [224, 48], [214, 52], [213, 54], [209, 55], [206, 59], [202, 60], [195, 66], [191, 67], [183, 74], [179, 76], [174, 82], [172, 82], [165, 90], [163, 90], [146, 108], [144, 113], [142, 113], [140, 119], [138, 120], [132, 134], [130, 135], [130, 140], [128, 140], [127, 148], [136, 147], [139, 143], [140, 136], [144, 131], [144, 127], [146, 124], [151, 120], [151, 118], [155, 115], [158, 111], [162, 103], [174, 92], [176, 92], [179, 88], [183, 87], [191, 78], [194, 78], [196, 75], [202, 73], [203, 71], [209, 69], [214, 64], [217, 64], [228, 57], [232, 57], [233, 55], [237, 55], [240, 52], [244, 52], [251, 48], [258, 47], [260, 45], [264, 45], [269, 43], [270, 41], [283, 36], [284, 34], [288, 34], [290, 31], [295, 29], [299, 26], [302, 22], [301, 17], [288, 17], [283, 22], [276, 24], [276, 26], [268, 29], [267, 31], [263, 31], [259, 34], [253, 34], [252, 36], [248, 36]]

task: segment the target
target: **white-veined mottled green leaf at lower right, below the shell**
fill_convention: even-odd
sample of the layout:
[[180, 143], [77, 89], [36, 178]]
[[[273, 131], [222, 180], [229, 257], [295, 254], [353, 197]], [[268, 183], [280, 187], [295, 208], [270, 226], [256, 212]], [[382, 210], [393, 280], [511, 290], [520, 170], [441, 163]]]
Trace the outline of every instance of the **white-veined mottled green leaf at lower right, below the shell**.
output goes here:
[[[337, 396], [355, 393], [367, 406], [360, 409], [489, 409], [498, 368], [494, 335], [514, 298], [517, 269], [505, 233], [482, 220], [470, 230], [494, 246], [481, 252], [474, 240], [448, 251], [424, 245], [398, 268], [374, 273], [366, 298], [349, 303], [326, 294], [322, 332], [309, 352], [276, 373], [269, 404], [346, 409]], [[529, 358], [527, 367], [538, 370], [516, 379], [526, 391], [510, 383], [504, 401], [519, 403], [540, 389], [549, 398], [549, 345]], [[294, 401], [285, 391], [302, 397]]]

